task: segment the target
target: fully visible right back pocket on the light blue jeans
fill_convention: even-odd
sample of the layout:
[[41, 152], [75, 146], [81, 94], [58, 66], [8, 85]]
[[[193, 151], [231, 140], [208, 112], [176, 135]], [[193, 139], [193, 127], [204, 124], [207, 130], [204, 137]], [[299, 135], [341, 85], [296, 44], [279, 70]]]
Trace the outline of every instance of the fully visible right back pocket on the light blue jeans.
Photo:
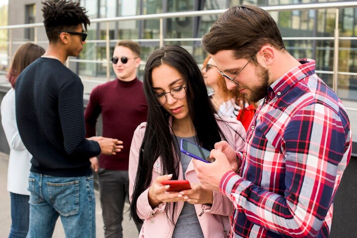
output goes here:
[[60, 215], [68, 217], [79, 213], [79, 180], [46, 184], [53, 206]]

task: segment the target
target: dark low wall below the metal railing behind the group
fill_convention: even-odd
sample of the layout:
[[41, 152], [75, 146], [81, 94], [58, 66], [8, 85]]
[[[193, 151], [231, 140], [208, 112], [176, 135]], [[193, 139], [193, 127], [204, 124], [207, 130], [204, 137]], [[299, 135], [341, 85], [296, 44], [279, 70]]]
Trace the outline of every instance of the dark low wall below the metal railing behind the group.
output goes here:
[[[8, 88], [0, 86], [0, 100], [7, 92]], [[1, 103], [0, 101], [0, 103]], [[84, 104], [87, 101], [84, 100]], [[102, 134], [102, 119], [98, 119], [97, 132]], [[357, 148], [357, 145], [355, 146]], [[8, 154], [9, 148], [0, 126], [0, 151]], [[330, 238], [356, 238], [357, 237], [357, 157], [352, 157], [342, 178], [339, 190], [335, 198], [334, 216]], [[95, 174], [95, 180], [96, 174]], [[97, 184], [95, 184], [97, 188]]]

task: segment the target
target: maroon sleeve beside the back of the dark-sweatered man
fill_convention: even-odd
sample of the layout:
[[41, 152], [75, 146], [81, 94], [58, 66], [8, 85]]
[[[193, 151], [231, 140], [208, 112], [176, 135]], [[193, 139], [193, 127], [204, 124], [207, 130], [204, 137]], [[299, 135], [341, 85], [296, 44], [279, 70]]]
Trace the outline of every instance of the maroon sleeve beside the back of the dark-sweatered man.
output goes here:
[[99, 104], [99, 91], [98, 87], [95, 87], [89, 96], [87, 108], [84, 112], [84, 119], [86, 125], [85, 137], [88, 138], [96, 135], [97, 119], [101, 112], [102, 109]]

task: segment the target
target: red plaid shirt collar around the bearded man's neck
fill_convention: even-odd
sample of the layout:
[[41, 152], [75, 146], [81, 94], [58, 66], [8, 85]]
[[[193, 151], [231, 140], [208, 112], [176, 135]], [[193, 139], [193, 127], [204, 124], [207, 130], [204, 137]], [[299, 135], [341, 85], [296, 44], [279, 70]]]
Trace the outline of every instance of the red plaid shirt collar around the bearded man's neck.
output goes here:
[[315, 73], [315, 60], [298, 59], [301, 65], [286, 72], [268, 88], [267, 101], [275, 96], [280, 98], [287, 93], [298, 81]]

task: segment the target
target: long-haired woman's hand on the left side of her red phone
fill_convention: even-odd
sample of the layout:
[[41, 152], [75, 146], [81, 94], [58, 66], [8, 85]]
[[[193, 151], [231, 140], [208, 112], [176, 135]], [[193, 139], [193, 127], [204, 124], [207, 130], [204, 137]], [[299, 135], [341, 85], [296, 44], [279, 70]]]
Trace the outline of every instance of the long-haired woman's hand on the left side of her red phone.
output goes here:
[[163, 185], [161, 182], [164, 180], [170, 180], [171, 178], [172, 175], [159, 176], [151, 184], [148, 192], [148, 200], [152, 208], [157, 207], [162, 202], [179, 202], [189, 200], [186, 195], [182, 196], [179, 192], [167, 191], [167, 189], [170, 188], [170, 185]]

